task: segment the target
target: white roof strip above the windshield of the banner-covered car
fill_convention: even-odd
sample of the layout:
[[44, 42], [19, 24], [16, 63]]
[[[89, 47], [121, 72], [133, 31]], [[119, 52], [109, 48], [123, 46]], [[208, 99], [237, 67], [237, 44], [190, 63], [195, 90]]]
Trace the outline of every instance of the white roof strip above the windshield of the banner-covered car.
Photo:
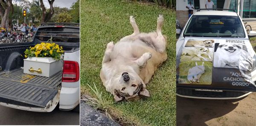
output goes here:
[[194, 15], [226, 15], [226, 16], [238, 16], [236, 12], [231, 11], [207, 11], [207, 10], [201, 10], [198, 12], [195, 12]]

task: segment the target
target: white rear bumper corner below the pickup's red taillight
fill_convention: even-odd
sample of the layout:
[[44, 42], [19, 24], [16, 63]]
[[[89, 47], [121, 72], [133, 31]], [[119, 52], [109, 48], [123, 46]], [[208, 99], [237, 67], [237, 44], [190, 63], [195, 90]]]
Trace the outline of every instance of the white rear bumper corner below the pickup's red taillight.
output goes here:
[[62, 87], [60, 94], [60, 110], [68, 111], [79, 105], [80, 88]]

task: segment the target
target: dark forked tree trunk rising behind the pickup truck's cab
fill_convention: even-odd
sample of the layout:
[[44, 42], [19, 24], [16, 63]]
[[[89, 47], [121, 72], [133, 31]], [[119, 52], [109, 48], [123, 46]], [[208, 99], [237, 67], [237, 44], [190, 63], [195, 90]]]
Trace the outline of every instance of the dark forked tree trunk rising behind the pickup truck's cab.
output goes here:
[[46, 8], [44, 7], [43, 0], [40, 0], [41, 9], [42, 9], [41, 23], [47, 23], [49, 20], [51, 20], [52, 15], [54, 14], [54, 9], [53, 9], [53, 2], [54, 2], [54, 0], [48, 0], [48, 2], [50, 4], [50, 9], [47, 12]]

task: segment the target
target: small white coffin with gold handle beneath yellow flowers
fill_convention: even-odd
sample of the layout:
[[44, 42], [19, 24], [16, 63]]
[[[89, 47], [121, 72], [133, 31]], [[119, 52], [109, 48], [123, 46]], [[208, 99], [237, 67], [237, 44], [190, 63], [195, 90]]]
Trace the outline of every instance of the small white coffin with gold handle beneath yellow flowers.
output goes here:
[[51, 77], [61, 71], [62, 66], [61, 60], [56, 61], [52, 57], [29, 57], [24, 59], [23, 72], [25, 74]]

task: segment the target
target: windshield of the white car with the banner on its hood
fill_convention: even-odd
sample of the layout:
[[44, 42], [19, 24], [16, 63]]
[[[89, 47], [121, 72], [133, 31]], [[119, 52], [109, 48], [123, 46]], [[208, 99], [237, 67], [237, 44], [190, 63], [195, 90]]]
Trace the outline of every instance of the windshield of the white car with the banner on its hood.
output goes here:
[[245, 37], [238, 16], [193, 15], [183, 34], [184, 37]]

